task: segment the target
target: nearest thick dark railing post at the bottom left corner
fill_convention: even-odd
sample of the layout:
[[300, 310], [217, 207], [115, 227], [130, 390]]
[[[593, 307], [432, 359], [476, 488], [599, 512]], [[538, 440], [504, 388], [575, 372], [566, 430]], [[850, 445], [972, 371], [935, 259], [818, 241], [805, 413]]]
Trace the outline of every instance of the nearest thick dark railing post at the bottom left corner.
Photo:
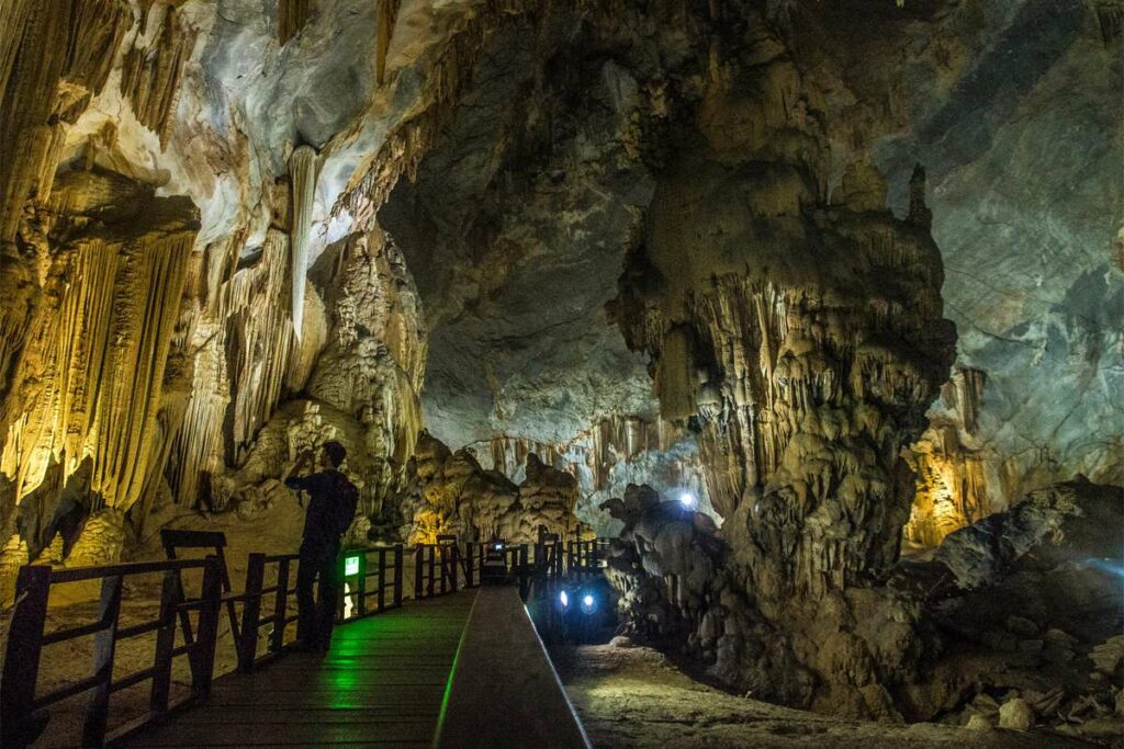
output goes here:
[[47, 618], [51, 567], [28, 565], [16, 578], [16, 610], [0, 676], [0, 746], [22, 749], [36, 737], [31, 707], [39, 675], [43, 624]]

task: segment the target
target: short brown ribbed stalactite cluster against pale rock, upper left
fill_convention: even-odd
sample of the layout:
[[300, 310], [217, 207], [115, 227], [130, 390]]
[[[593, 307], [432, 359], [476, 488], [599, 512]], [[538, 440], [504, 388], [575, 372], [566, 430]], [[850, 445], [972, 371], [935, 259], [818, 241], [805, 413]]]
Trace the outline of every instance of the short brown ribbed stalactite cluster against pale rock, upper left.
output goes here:
[[160, 136], [161, 146], [166, 146], [183, 71], [196, 46], [196, 31], [172, 6], [164, 8], [158, 20], [154, 18], [153, 13], [146, 15], [147, 24], [158, 24], [152, 42], [145, 44], [149, 29], [144, 28], [125, 55], [121, 95], [132, 102], [140, 124]]

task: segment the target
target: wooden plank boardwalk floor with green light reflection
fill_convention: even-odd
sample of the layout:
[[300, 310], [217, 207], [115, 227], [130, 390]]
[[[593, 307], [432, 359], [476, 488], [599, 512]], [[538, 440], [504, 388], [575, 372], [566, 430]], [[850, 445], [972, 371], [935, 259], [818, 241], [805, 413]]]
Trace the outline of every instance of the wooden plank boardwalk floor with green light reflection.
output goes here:
[[475, 591], [338, 625], [324, 657], [285, 655], [125, 747], [429, 746]]

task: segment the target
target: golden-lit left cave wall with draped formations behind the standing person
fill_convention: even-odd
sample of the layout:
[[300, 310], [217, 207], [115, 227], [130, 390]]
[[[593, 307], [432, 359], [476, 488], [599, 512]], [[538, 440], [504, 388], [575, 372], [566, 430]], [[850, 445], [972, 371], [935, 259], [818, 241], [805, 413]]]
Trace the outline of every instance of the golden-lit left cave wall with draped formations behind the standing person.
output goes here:
[[[375, 9], [344, 6], [6, 6], [6, 594], [48, 548], [108, 561], [178, 506], [253, 514], [326, 439], [352, 448], [365, 512], [405, 475], [413, 280], [377, 228], [325, 226], [357, 156], [323, 147], [375, 89], [339, 62], [387, 52]], [[369, 26], [341, 39], [361, 6]]]

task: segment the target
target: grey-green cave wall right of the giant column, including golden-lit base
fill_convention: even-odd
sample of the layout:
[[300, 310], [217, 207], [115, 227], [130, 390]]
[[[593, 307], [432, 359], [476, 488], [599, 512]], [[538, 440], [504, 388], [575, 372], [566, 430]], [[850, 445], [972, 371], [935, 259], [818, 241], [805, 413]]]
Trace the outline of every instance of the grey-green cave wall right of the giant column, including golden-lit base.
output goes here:
[[895, 16], [825, 7], [792, 21], [843, 115], [833, 148], [870, 153], [899, 216], [913, 165], [925, 165], [957, 367], [984, 374], [959, 445], [946, 429], [955, 407], [934, 403], [918, 455], [945, 478], [922, 477], [923, 503], [966, 494], [989, 513], [1076, 472], [1124, 482], [1124, 188], [1108, 167], [1124, 158], [1122, 12], [984, 1]]

